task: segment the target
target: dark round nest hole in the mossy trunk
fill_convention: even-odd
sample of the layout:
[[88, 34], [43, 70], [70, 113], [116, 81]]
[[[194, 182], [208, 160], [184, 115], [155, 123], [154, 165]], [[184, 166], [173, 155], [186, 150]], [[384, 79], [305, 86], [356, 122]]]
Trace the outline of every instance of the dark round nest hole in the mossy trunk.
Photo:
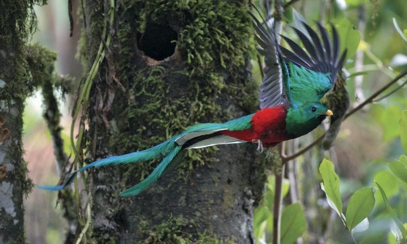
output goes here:
[[137, 32], [138, 49], [157, 61], [173, 55], [177, 41], [177, 32], [167, 25], [147, 22], [144, 33]]

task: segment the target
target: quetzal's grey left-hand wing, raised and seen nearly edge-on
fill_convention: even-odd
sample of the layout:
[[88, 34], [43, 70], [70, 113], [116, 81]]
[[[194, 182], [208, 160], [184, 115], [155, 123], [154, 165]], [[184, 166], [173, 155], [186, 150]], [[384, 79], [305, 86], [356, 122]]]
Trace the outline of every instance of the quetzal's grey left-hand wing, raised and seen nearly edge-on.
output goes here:
[[253, 13], [250, 13], [254, 19], [253, 26], [257, 33], [255, 38], [261, 47], [258, 51], [265, 57], [265, 75], [262, 79], [259, 93], [260, 108], [264, 109], [266, 107], [283, 104], [287, 99], [291, 100], [289, 94], [288, 70], [278, 48], [272, 19], [266, 13], [266, 20], [262, 16], [261, 11], [259, 11], [254, 4], [252, 5], [260, 14], [263, 22], [262, 24]]

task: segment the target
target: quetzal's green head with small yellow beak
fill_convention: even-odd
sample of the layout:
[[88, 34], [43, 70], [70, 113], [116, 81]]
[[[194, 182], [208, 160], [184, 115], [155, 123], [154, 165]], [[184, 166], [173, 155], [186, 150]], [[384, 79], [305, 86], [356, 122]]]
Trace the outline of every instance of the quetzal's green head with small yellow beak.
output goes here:
[[295, 137], [305, 135], [332, 115], [332, 111], [321, 103], [291, 107], [285, 120], [287, 132]]

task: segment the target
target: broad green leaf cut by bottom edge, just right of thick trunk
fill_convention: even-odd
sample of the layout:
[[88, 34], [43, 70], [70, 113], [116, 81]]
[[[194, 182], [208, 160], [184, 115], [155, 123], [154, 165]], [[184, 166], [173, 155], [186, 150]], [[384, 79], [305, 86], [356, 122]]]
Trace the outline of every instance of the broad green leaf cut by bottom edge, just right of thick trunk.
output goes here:
[[305, 215], [298, 202], [284, 208], [281, 215], [281, 244], [292, 244], [307, 228]]

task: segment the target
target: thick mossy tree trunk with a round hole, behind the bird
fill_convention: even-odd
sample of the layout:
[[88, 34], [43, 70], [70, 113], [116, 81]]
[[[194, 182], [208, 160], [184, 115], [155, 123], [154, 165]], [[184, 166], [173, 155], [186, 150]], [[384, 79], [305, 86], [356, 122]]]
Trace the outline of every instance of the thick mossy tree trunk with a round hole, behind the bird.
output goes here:
[[[81, 56], [90, 67], [112, 2], [87, 0]], [[112, 37], [90, 93], [89, 162], [143, 150], [197, 122], [225, 122], [258, 108], [248, 61], [252, 24], [241, 0], [118, 0]], [[97, 243], [230, 240], [253, 243], [254, 198], [264, 185], [255, 146], [189, 150], [135, 197], [119, 192], [154, 162], [95, 169]]]

